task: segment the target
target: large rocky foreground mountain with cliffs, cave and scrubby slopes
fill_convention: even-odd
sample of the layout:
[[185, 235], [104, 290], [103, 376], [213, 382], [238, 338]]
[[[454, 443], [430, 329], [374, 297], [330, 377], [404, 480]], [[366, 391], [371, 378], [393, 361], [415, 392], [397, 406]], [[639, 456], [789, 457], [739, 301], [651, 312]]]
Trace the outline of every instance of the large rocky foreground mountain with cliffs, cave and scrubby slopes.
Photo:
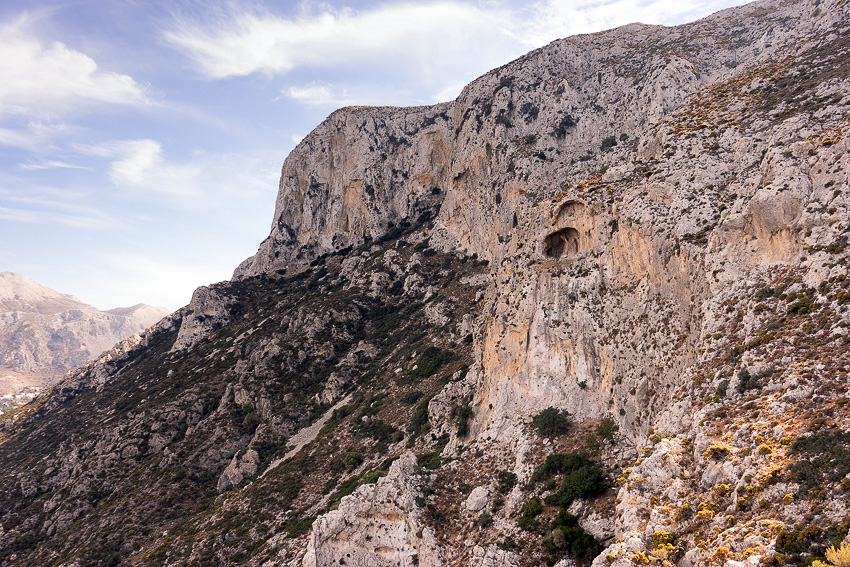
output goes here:
[[338, 110], [231, 281], [0, 418], [0, 563], [845, 567], [848, 150], [846, 0]]

